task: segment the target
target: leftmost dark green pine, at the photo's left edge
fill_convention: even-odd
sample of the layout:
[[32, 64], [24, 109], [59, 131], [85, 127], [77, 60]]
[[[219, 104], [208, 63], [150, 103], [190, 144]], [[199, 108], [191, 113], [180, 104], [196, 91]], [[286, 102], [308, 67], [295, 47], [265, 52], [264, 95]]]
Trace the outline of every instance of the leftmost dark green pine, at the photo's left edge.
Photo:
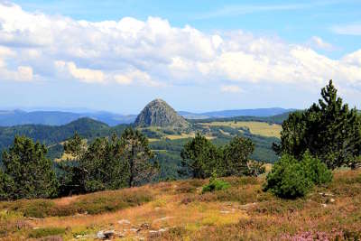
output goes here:
[[[45, 157], [47, 148], [24, 136], [15, 136], [14, 145], [3, 153], [5, 181], [2, 189], [10, 199], [52, 198], [58, 193], [58, 181], [52, 162]], [[14, 187], [12, 187], [14, 185]]]

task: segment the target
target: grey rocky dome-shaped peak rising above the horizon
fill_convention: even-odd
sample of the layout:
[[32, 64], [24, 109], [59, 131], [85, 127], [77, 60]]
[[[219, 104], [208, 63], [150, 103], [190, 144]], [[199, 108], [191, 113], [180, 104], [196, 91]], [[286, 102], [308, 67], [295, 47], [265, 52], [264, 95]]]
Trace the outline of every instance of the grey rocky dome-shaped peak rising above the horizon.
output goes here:
[[190, 124], [162, 99], [154, 99], [136, 117], [134, 125], [137, 127], [171, 127], [187, 129]]

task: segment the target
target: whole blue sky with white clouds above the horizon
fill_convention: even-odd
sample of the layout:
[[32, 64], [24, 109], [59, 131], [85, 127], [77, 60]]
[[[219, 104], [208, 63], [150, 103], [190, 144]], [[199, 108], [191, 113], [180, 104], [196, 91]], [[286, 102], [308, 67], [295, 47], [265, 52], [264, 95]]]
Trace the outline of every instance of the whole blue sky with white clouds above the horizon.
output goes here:
[[361, 108], [361, 1], [0, 0], [0, 109]]

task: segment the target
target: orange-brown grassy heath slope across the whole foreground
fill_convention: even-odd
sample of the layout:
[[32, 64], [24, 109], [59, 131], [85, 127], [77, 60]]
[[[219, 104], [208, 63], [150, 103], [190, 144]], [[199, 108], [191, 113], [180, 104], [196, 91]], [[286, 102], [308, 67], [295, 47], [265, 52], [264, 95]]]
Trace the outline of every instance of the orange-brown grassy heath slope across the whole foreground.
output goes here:
[[[97, 230], [104, 229], [115, 229], [127, 240], [136, 236], [155, 240], [361, 238], [361, 171], [338, 171], [328, 188], [317, 188], [305, 199], [295, 200], [264, 193], [263, 178], [227, 181], [230, 189], [207, 194], [200, 194], [207, 181], [188, 180], [63, 199], [2, 202], [0, 239], [49, 235], [92, 239]], [[324, 197], [320, 192], [334, 196]], [[39, 214], [46, 218], [23, 218]], [[56, 217], [59, 214], [63, 217]], [[119, 224], [121, 219], [131, 224]], [[144, 223], [149, 229], [141, 227]], [[136, 233], [131, 227], [140, 230]], [[160, 228], [166, 231], [149, 231]]]

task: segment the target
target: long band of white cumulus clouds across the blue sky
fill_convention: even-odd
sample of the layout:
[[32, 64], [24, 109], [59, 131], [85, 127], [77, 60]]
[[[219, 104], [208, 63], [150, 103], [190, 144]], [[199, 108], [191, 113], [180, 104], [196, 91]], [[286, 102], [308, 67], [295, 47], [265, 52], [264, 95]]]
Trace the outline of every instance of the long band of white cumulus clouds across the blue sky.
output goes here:
[[[312, 40], [314, 48], [331, 47]], [[153, 87], [249, 82], [312, 88], [328, 79], [344, 88], [361, 85], [360, 51], [332, 60], [314, 48], [242, 31], [178, 28], [158, 17], [76, 21], [0, 3], [0, 78], [33, 79], [46, 71], [54, 79]]]

